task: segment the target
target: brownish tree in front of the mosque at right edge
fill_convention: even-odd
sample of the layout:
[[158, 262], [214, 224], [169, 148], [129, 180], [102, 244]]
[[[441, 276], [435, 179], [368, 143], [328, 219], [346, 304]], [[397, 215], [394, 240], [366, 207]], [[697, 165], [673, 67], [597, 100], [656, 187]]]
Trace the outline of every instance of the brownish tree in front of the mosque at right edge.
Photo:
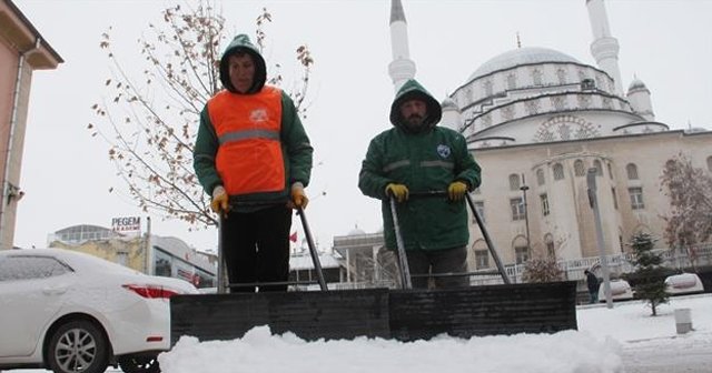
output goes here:
[[670, 198], [671, 213], [664, 238], [671, 248], [685, 250], [695, 265], [695, 245], [712, 235], [712, 178], [704, 170], [692, 167], [685, 155], [669, 160], [661, 177], [661, 190]]

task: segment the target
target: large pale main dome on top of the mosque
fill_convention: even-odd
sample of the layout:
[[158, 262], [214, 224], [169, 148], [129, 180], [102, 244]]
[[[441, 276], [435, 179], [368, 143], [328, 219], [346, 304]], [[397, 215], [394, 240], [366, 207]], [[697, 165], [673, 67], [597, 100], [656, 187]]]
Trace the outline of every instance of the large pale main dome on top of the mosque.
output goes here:
[[473, 81], [488, 73], [511, 69], [522, 64], [544, 63], [544, 62], [574, 62], [581, 63], [575, 58], [543, 47], [517, 48], [498, 54], [483, 63], [467, 81]]

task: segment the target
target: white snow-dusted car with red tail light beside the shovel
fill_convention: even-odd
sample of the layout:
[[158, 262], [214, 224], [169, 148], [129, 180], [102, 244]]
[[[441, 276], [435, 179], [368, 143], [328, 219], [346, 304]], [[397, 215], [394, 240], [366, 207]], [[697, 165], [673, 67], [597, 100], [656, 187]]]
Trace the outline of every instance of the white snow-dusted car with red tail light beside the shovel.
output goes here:
[[160, 372], [182, 280], [150, 276], [62, 249], [0, 251], [0, 370]]

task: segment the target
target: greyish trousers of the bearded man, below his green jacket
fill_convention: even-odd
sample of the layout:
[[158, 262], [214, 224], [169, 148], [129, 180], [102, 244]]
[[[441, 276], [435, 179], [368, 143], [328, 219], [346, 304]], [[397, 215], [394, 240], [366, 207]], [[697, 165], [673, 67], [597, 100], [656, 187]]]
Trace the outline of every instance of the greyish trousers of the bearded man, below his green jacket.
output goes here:
[[[413, 289], [427, 289], [429, 276], [415, 274], [444, 274], [467, 272], [467, 248], [447, 250], [412, 250], [407, 251], [408, 269]], [[436, 289], [469, 286], [469, 276], [433, 276]]]

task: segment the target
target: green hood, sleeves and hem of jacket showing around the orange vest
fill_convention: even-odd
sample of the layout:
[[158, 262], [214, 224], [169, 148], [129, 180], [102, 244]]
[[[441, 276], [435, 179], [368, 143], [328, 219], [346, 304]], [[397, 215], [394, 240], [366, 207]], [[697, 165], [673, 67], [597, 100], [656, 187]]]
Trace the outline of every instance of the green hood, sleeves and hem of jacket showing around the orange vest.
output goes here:
[[[239, 34], [226, 48], [220, 59], [220, 81], [226, 90], [238, 93], [230, 83], [228, 71], [228, 58], [236, 52], [247, 52], [253, 56], [255, 61], [255, 82], [249, 91], [245, 94], [259, 92], [265, 85], [266, 68], [265, 60], [259, 51], [249, 41], [245, 34]], [[294, 102], [284, 91], [281, 92], [281, 129], [280, 142], [285, 167], [285, 190], [281, 192], [254, 193], [230, 195], [230, 203], [238, 206], [238, 211], [249, 211], [259, 208], [259, 205], [269, 205], [275, 203], [286, 203], [289, 195], [290, 185], [300, 182], [304, 186], [309, 184], [312, 173], [312, 154], [314, 152], [309, 138], [304, 130], [304, 125], [299, 120], [299, 115]], [[200, 113], [200, 124], [198, 127], [198, 135], [194, 149], [194, 169], [198, 181], [202, 185], [208, 195], [212, 195], [212, 190], [217, 185], [221, 185], [222, 181], [216, 170], [215, 159], [218, 152], [219, 142], [215, 128], [210, 121], [208, 105], [206, 104]]]

